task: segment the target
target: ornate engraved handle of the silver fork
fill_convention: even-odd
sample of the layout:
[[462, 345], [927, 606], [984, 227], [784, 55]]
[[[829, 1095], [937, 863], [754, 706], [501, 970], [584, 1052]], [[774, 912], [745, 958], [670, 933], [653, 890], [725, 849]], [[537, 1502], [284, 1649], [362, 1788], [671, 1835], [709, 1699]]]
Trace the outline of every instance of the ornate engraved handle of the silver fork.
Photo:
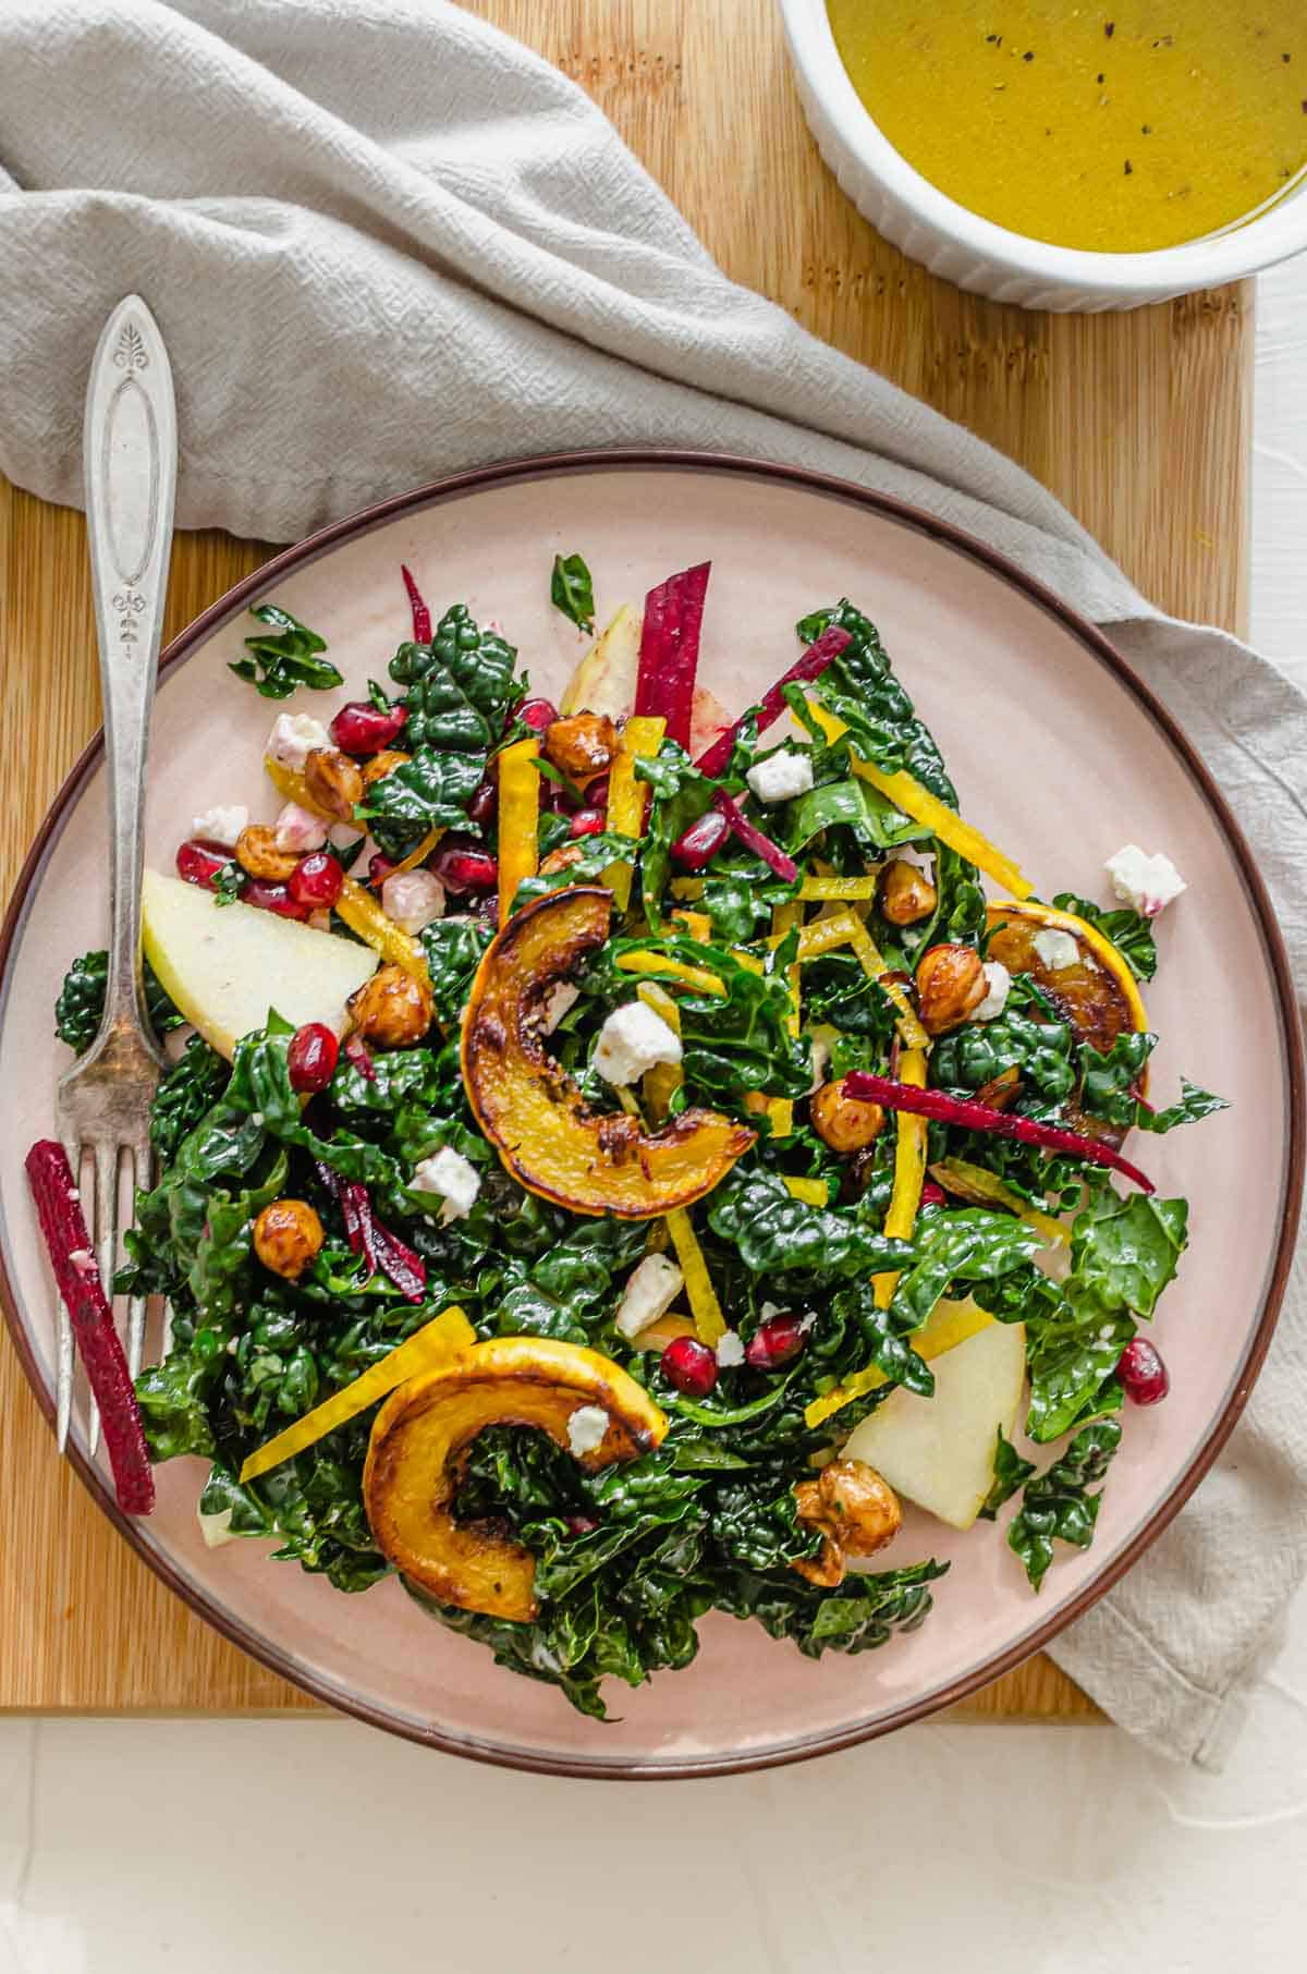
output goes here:
[[150, 705], [164, 630], [176, 490], [176, 405], [164, 340], [128, 294], [105, 324], [87, 389], [83, 460], [109, 772], [109, 983], [97, 1052], [140, 1030], [140, 867]]

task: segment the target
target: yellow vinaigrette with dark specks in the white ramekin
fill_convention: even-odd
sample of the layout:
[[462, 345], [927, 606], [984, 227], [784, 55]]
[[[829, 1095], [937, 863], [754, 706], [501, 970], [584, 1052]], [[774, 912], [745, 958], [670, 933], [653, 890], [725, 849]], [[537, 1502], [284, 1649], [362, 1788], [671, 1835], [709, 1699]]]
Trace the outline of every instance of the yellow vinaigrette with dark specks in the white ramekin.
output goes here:
[[827, 4], [888, 142], [1015, 233], [1177, 247], [1307, 166], [1307, 0]]

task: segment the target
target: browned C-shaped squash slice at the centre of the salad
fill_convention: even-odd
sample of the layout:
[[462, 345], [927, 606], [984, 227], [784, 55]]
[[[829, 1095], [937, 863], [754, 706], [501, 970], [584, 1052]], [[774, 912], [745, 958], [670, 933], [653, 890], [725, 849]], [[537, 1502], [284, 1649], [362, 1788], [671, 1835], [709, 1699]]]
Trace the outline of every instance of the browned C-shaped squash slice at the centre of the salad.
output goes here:
[[604, 944], [610, 908], [608, 890], [575, 884], [509, 918], [472, 981], [462, 1078], [476, 1121], [529, 1192], [575, 1214], [652, 1220], [721, 1184], [754, 1131], [697, 1107], [654, 1133], [626, 1111], [594, 1113], [549, 1056], [541, 1005]]

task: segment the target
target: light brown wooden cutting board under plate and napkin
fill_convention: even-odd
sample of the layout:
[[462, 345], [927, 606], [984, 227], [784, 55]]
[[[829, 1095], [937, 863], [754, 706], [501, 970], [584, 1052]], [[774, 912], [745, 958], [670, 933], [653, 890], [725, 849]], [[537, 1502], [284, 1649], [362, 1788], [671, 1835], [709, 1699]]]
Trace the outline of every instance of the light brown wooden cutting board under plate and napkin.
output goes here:
[[[600, 103], [736, 280], [1021, 460], [1167, 610], [1240, 628], [1252, 292], [1031, 316], [877, 239], [817, 158], [774, 0], [474, 0]], [[124, 282], [130, 278], [124, 272]], [[148, 292], [148, 280], [142, 278]], [[4, 894], [99, 724], [81, 515], [0, 482]], [[184, 535], [166, 636], [267, 547]], [[0, 1340], [0, 1709], [280, 1711], [314, 1702], [174, 1599], [91, 1506]], [[1037, 1658], [958, 1709], [1086, 1717]]]

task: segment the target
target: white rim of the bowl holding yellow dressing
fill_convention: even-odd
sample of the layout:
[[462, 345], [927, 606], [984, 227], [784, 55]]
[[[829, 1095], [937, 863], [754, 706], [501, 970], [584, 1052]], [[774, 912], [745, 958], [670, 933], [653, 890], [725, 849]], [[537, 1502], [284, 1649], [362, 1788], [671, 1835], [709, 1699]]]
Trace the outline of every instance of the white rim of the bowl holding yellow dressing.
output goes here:
[[1114, 298], [1220, 288], [1307, 247], [1307, 184], [1228, 233], [1143, 253], [1056, 247], [983, 219], [924, 178], [881, 130], [835, 45], [827, 0], [780, 0], [790, 57], [837, 138], [912, 219], [1013, 278], [1094, 288]]

